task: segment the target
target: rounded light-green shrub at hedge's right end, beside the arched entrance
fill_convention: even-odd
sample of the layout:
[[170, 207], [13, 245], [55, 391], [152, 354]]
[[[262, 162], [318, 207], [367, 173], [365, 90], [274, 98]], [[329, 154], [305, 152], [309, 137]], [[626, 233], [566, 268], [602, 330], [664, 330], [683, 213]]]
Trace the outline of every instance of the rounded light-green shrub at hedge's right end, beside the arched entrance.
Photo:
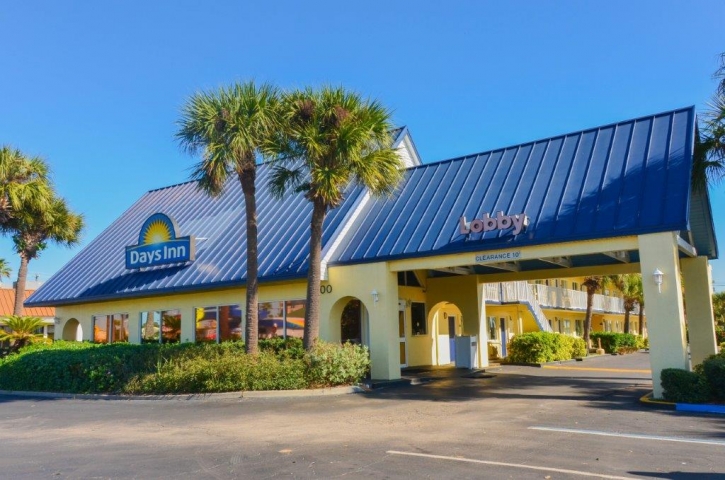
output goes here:
[[368, 348], [362, 345], [318, 341], [308, 354], [308, 378], [314, 386], [349, 385], [370, 368]]

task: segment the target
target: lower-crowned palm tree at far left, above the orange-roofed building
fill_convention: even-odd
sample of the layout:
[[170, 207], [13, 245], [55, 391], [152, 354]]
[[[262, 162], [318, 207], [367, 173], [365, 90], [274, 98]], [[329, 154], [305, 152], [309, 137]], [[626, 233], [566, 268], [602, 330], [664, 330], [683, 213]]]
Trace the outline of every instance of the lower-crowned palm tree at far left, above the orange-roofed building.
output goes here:
[[65, 200], [55, 197], [46, 209], [15, 212], [10, 220], [10, 229], [13, 231], [15, 251], [20, 256], [13, 313], [21, 315], [28, 263], [45, 250], [49, 241], [68, 247], [77, 244], [83, 230], [83, 216], [71, 212]]

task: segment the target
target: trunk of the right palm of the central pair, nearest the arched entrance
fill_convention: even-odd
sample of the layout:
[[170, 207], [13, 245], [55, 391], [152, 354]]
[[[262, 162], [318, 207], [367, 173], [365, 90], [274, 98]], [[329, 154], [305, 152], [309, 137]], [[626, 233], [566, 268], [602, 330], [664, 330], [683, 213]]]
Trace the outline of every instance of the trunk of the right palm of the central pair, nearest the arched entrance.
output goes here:
[[307, 272], [307, 310], [305, 311], [304, 347], [314, 347], [320, 334], [320, 260], [322, 257], [322, 225], [327, 208], [314, 200], [310, 222], [310, 263]]

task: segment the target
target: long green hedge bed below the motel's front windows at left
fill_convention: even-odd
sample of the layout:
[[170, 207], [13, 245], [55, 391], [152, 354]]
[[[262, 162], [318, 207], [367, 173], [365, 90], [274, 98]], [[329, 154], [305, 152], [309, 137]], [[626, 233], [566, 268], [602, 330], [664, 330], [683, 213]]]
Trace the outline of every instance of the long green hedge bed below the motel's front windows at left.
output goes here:
[[111, 345], [57, 341], [0, 360], [0, 389], [67, 393], [208, 393], [353, 384], [370, 365], [367, 348], [299, 339], [244, 344]]

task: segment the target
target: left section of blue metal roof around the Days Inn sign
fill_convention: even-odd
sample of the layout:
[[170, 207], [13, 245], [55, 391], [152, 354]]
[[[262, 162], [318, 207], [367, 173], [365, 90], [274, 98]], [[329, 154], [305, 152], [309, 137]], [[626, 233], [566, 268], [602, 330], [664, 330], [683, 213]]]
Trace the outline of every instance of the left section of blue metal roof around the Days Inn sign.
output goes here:
[[[312, 207], [302, 195], [274, 199], [266, 188], [270, 172], [268, 165], [258, 167], [259, 278], [305, 277]], [[347, 202], [328, 214], [323, 245], [361, 192], [361, 188], [350, 188]], [[176, 221], [180, 236], [197, 238], [196, 260], [127, 270], [125, 247], [138, 242], [142, 225], [157, 212]], [[246, 268], [244, 197], [239, 181], [231, 178], [216, 199], [199, 191], [196, 182], [187, 182], [146, 193], [36, 290], [26, 304], [62, 305], [242, 285]]]

